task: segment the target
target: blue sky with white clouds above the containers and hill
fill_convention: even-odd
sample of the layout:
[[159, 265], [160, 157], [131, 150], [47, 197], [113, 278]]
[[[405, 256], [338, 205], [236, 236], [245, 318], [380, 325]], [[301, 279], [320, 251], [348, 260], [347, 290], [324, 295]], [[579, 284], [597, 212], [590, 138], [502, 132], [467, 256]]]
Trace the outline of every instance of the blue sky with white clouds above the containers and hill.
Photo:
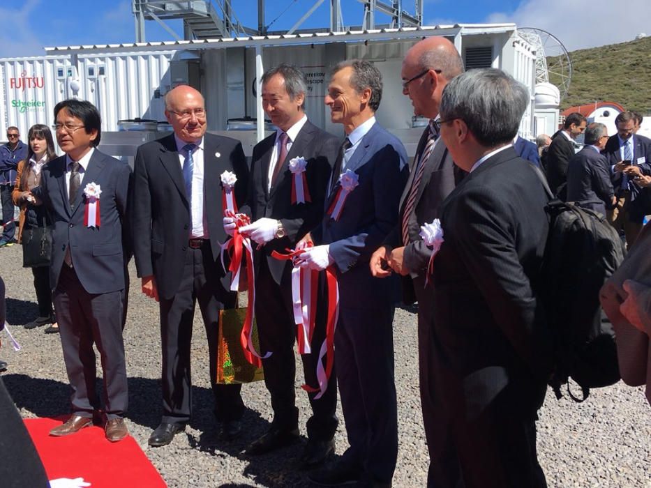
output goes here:
[[[256, 0], [231, 0], [239, 20], [257, 26]], [[387, 0], [385, 0], [387, 1]], [[223, 0], [214, 3], [223, 3]], [[315, 0], [267, 0], [269, 29], [289, 29]], [[359, 25], [363, 5], [342, 0], [344, 24]], [[388, 2], [387, 2], [388, 3]], [[403, 1], [413, 13], [414, 1]], [[285, 11], [286, 10], [286, 11]], [[283, 13], [284, 12], [284, 13]], [[571, 2], [569, 0], [425, 0], [425, 24], [516, 22], [553, 33], [569, 50], [632, 40], [639, 33], [651, 35], [651, 0]], [[0, 3], [0, 57], [41, 56], [45, 46], [95, 43], [133, 43], [135, 23], [130, 0], [3, 0]], [[378, 15], [377, 22], [384, 22]], [[306, 21], [304, 27], [327, 26], [329, 1]], [[181, 23], [168, 25], [181, 32]], [[171, 40], [154, 21], [147, 22], [147, 40]]]

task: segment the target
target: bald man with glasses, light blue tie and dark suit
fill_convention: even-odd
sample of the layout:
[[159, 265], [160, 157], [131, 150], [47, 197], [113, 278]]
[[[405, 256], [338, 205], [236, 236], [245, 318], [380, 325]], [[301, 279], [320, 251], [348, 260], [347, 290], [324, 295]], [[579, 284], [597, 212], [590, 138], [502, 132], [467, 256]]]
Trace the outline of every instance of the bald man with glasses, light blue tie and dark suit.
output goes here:
[[190, 340], [199, 301], [210, 358], [210, 382], [220, 436], [241, 431], [241, 385], [216, 384], [219, 311], [235, 306], [235, 293], [219, 254], [226, 240], [220, 175], [237, 176], [234, 195], [246, 198], [248, 167], [235, 139], [206, 134], [201, 93], [181, 85], [165, 96], [174, 133], [138, 148], [134, 166], [132, 223], [142, 291], [160, 303], [163, 347], [163, 418], [149, 445], [166, 445], [190, 420]]

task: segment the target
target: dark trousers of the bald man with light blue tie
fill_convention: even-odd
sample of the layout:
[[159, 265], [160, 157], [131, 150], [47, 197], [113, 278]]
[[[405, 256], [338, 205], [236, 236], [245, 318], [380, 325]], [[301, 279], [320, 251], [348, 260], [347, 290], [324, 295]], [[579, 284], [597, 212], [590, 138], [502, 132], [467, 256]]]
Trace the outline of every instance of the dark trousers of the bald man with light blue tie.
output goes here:
[[209, 241], [200, 249], [188, 247], [179, 289], [170, 300], [160, 299], [160, 337], [163, 346], [163, 422], [184, 425], [192, 411], [190, 342], [199, 302], [210, 360], [210, 383], [217, 420], [237, 420], [244, 413], [241, 385], [218, 385], [217, 339], [219, 311], [235, 306], [235, 293], [226, 291]]

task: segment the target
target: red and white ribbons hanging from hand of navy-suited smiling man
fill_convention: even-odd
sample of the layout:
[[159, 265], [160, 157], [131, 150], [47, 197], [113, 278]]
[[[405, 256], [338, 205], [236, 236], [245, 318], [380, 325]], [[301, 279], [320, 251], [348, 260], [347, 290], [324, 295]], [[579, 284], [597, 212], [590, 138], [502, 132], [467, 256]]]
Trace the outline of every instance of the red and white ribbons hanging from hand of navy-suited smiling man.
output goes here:
[[[308, 247], [311, 243], [308, 244]], [[287, 250], [287, 254], [272, 252], [271, 256], [276, 259], [294, 259], [306, 250]], [[310, 354], [312, 348], [310, 343], [314, 333], [316, 312], [317, 312], [317, 289], [320, 271], [308, 270], [294, 266], [292, 270], [292, 300], [294, 304], [294, 322], [297, 325], [297, 343], [299, 353]], [[328, 381], [334, 367], [334, 333], [339, 318], [339, 286], [334, 266], [324, 270], [326, 273], [326, 287], [328, 293], [328, 315], [326, 323], [325, 339], [319, 349], [319, 360], [317, 361], [318, 388], [310, 385], [303, 385], [307, 392], [318, 392], [315, 399], [319, 399], [328, 388]], [[325, 364], [324, 364], [325, 358]]]

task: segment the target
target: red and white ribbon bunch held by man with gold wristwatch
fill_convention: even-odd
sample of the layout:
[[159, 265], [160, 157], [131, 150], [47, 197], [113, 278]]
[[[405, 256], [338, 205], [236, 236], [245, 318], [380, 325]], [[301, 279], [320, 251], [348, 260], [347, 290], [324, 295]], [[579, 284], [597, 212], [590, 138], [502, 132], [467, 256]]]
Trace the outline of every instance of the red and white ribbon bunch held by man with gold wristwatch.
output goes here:
[[255, 350], [253, 345], [253, 317], [255, 314], [255, 273], [253, 271], [253, 248], [251, 247], [250, 238], [243, 236], [239, 233], [239, 228], [244, 225], [250, 224], [250, 219], [247, 215], [238, 213], [235, 215], [231, 211], [225, 211], [227, 217], [235, 218], [237, 229], [232, 236], [225, 243], [221, 245], [221, 264], [224, 265], [224, 252], [227, 252], [230, 257], [230, 265], [228, 270], [232, 273], [230, 283], [231, 291], [239, 289], [239, 279], [242, 272], [242, 267], [246, 263], [246, 278], [248, 280], [248, 305], [246, 307], [246, 315], [244, 317], [244, 324], [242, 325], [242, 333], [239, 337], [240, 344], [244, 351], [246, 360], [255, 367], [262, 367], [262, 360], [269, 358], [271, 353], [265, 353], [261, 356]]

